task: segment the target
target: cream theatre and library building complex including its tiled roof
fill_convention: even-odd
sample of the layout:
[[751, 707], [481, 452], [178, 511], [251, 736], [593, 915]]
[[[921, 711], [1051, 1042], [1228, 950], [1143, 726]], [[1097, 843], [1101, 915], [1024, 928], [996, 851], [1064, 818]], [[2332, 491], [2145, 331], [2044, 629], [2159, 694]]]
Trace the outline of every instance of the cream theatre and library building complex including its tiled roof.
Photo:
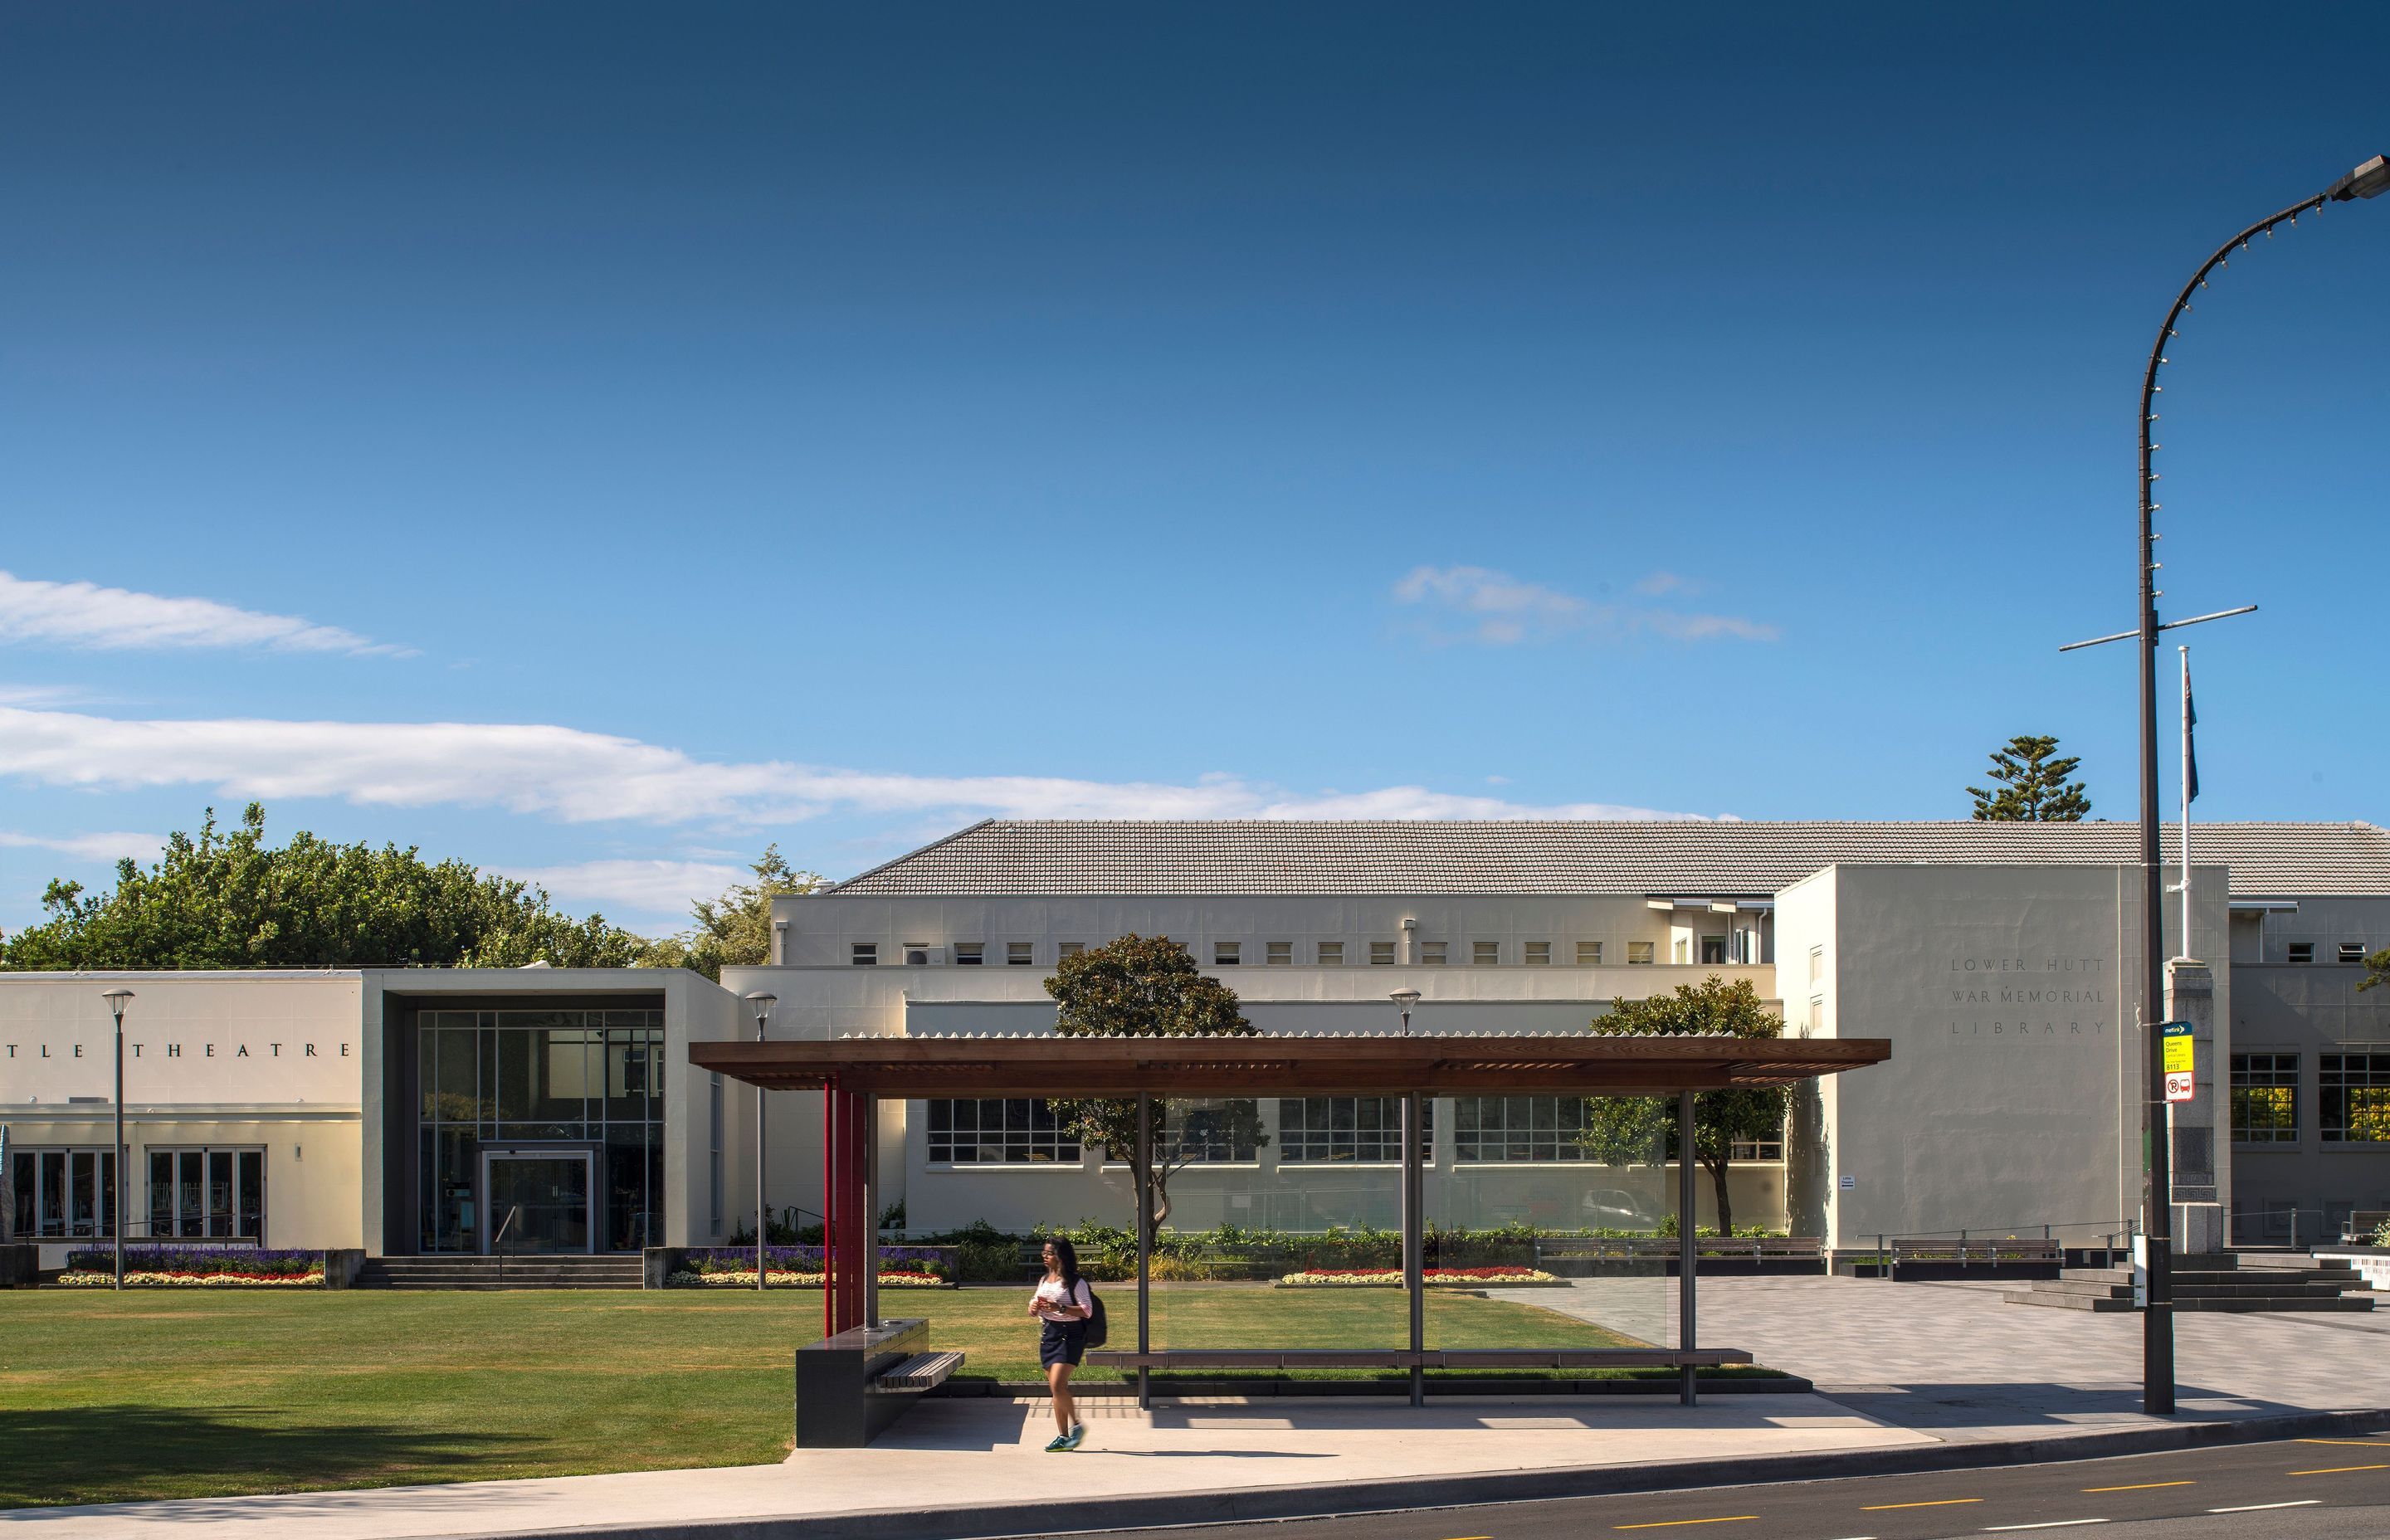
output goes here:
[[[2168, 854], [2177, 849], [2168, 830]], [[2139, 1212], [2139, 868], [2132, 825], [1984, 823], [980, 823], [774, 902], [772, 959], [722, 985], [650, 968], [0, 976], [7, 1220], [105, 1236], [124, 1014], [131, 1236], [368, 1253], [703, 1246], [753, 1215], [746, 1086], [688, 1045], [1052, 1033], [1073, 949], [1169, 935], [1262, 1033], [1577, 1033], [1618, 1000], [1749, 980], [1790, 1035], [1890, 1059], [1795, 1095], [1738, 1148], [1740, 1224], [1876, 1234]], [[2242, 1243], [2390, 1208], [2390, 835], [2194, 827], [2161, 918], [2170, 1014], [2196, 1023], [2180, 1196]], [[1398, 992], [1417, 992], [1408, 1023]], [[1173, 1105], [1171, 1224], [1391, 1224], [1384, 1095]], [[770, 1098], [770, 1200], [817, 1210], [820, 1095]], [[1585, 1102], [1434, 1098], [1436, 1224], [1649, 1227], [1661, 1169], [1592, 1162]], [[1126, 1172], [1037, 1098], [880, 1110], [880, 1193], [911, 1232], [1123, 1224]], [[1699, 1184], [1704, 1220], [1709, 1181]], [[2194, 1215], [2196, 1217], [2196, 1215]], [[55, 1265], [45, 1255], [48, 1265]]]

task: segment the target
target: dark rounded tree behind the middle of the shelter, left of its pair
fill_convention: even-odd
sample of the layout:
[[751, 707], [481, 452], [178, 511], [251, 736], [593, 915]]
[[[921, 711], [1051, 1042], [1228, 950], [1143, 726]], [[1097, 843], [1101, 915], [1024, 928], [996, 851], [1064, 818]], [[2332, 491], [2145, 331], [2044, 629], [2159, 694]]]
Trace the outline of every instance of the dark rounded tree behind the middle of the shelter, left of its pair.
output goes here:
[[[1195, 971], [1195, 957], [1166, 935], [1123, 935], [1066, 957], [1047, 978], [1054, 1031], [1068, 1038], [1250, 1038], [1252, 1021], [1236, 990]], [[1056, 1098], [1054, 1122], [1080, 1143], [1104, 1145], [1128, 1162], [1128, 1179], [1152, 1193], [1152, 1224], [1171, 1212], [1171, 1177], [1212, 1148], [1260, 1148], [1260, 1110], [1250, 1100], [1209, 1102], [1166, 1117], [1157, 1098], [1147, 1143], [1138, 1143], [1138, 1102]], [[1152, 1243], [1152, 1234], [1145, 1236]]]

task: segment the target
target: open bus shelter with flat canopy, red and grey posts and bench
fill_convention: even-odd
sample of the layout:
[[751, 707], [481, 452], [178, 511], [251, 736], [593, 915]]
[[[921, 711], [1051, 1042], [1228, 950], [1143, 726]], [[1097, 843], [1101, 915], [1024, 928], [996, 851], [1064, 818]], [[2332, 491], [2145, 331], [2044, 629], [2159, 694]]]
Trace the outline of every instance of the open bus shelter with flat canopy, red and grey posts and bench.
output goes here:
[[[1314, 1368], [1326, 1358], [1410, 1370], [1412, 1404], [1427, 1368], [1532, 1363], [1599, 1368], [1671, 1363], [1680, 1397], [1695, 1401], [1702, 1365], [1747, 1361], [1733, 1349], [1697, 1346], [1699, 1246], [1695, 1160], [1678, 1160], [1678, 1346], [1666, 1351], [1503, 1349], [1432, 1353], [1424, 1342], [1422, 1100], [1441, 1095], [1632, 1095], [1675, 1098], [1678, 1148], [1692, 1150], [1695, 1098], [1704, 1090], [1797, 1086], [1819, 1076], [1881, 1064], [1886, 1038], [1699, 1038], [1699, 1035], [1248, 1035], [1248, 1038], [1095, 1038], [1095, 1035], [851, 1035], [810, 1043], [691, 1043], [688, 1059], [762, 1090], [810, 1090], [825, 1098], [822, 1172], [822, 1332], [880, 1322], [877, 1105], [882, 1098], [1116, 1098], [1135, 1100], [1140, 1131], [1164, 1098], [1374, 1095], [1398, 1098], [1401, 1272], [1408, 1294], [1408, 1351], [1298, 1353], [1245, 1351], [1250, 1361]], [[1109, 1353], [1138, 1370], [1140, 1404], [1150, 1370], [1171, 1353], [1152, 1349], [1150, 1191], [1138, 1191], [1138, 1346]], [[1119, 1332], [1114, 1334], [1119, 1339]], [[1205, 1365], [1236, 1353], [1207, 1353]]]

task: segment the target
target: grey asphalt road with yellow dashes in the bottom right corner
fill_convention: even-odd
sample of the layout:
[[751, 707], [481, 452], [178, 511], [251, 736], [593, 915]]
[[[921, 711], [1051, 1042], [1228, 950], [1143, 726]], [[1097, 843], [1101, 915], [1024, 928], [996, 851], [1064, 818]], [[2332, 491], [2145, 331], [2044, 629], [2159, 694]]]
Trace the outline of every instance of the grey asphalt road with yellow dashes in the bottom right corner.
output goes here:
[[[1171, 1540], [1936, 1540], [1943, 1535], [2383, 1540], [2390, 1435], [2285, 1440], [1996, 1471], [1867, 1475], [1632, 1497], [1173, 1528]], [[1133, 1530], [1123, 1530], [1133, 1533]]]

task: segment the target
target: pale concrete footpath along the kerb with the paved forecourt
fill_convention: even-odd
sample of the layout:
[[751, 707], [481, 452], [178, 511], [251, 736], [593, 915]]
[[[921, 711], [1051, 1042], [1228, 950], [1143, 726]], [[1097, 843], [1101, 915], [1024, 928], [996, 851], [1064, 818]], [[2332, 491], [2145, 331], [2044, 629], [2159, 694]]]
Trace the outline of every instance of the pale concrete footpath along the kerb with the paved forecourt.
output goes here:
[[[1525, 1298], [1525, 1296], [1522, 1296]], [[1599, 1284], [1525, 1303], [1599, 1313]], [[1702, 1339], [1826, 1394], [1173, 1401], [1090, 1397], [1044, 1454], [1042, 1401], [927, 1401], [870, 1449], [777, 1466], [215, 1497], [0, 1514], [26, 1540], [576, 1533], [944, 1540], [2084, 1459], [2390, 1428], [2390, 1318], [2182, 1320], [2182, 1416], [2137, 1408], [2139, 1318], [2003, 1306], [1998, 1287], [1704, 1279]]]

